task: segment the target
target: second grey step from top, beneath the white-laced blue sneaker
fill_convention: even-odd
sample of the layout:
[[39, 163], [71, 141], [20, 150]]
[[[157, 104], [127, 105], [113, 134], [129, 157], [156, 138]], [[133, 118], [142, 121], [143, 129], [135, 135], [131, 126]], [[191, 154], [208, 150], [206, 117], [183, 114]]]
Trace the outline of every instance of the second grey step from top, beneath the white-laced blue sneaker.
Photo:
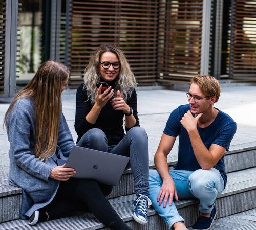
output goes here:
[[[217, 218], [229, 216], [256, 208], [256, 168], [228, 173], [228, 183], [226, 189], [217, 198], [216, 206], [218, 210]], [[132, 203], [135, 195], [127, 195], [110, 199], [110, 203], [127, 222], [132, 229], [161, 229], [167, 230], [166, 224], [157, 215], [153, 208], [148, 211], [148, 224], [142, 226], [133, 220]], [[198, 200], [184, 200], [176, 202], [179, 213], [185, 218], [186, 225], [191, 226], [198, 216]], [[90, 213], [77, 213], [68, 218], [52, 220], [39, 223], [36, 226], [29, 226], [28, 221], [13, 220], [0, 224], [0, 230], [8, 229], [104, 229], [104, 225], [99, 223]]]

